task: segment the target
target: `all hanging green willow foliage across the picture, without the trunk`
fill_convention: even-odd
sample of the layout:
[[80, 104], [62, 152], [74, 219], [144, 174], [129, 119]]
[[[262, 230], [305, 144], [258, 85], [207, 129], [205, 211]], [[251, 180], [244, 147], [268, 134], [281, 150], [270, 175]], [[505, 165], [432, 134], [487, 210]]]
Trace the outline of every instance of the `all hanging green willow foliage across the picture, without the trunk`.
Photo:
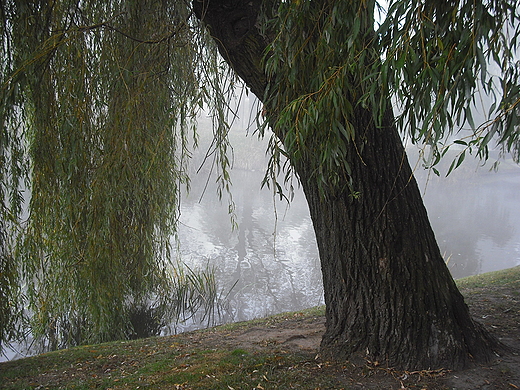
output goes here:
[[[212, 10], [236, 16], [225, 40], [199, 21]], [[236, 79], [217, 48], [264, 103], [267, 177], [308, 172], [322, 199], [369, 196], [353, 165], [394, 125], [431, 148], [429, 166], [453, 139], [453, 167], [493, 143], [520, 159], [516, 1], [3, 0], [0, 13], [0, 340], [24, 305], [50, 342], [57, 327], [65, 339], [125, 337], [131, 305], [171, 295], [202, 108], [219, 195], [230, 186]], [[234, 44], [261, 61], [233, 60]]]

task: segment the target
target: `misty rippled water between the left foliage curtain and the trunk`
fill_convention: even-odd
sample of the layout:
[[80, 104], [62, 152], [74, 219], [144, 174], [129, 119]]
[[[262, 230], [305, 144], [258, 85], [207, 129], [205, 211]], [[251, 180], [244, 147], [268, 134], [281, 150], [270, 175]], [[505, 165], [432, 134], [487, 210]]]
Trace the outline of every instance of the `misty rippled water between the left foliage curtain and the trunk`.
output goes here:
[[238, 192], [234, 189], [235, 231], [231, 231], [227, 205], [214, 196], [200, 203], [196, 196], [188, 196], [183, 203], [182, 258], [190, 265], [210, 261], [221, 288], [227, 291], [234, 286], [224, 321], [323, 303], [317, 247], [303, 194], [297, 194], [287, 209], [268, 190], [260, 190], [262, 177], [260, 171], [233, 172], [234, 182], [240, 183]]

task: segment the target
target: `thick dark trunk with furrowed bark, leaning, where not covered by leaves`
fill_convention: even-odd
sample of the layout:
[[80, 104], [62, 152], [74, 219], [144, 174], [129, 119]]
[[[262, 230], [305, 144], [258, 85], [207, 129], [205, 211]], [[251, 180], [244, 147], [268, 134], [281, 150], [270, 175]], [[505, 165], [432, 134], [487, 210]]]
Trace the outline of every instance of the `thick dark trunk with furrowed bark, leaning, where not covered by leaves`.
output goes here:
[[[194, 10], [225, 60], [263, 100], [267, 42], [255, 26], [261, 2], [194, 1]], [[322, 353], [407, 369], [488, 361], [497, 342], [471, 319], [443, 261], [392, 114], [386, 127], [376, 128], [370, 112], [356, 111], [356, 142], [364, 141], [362, 147], [351, 142], [346, 159], [359, 196], [335, 189], [324, 197], [312, 162], [293, 162], [322, 266]]]

